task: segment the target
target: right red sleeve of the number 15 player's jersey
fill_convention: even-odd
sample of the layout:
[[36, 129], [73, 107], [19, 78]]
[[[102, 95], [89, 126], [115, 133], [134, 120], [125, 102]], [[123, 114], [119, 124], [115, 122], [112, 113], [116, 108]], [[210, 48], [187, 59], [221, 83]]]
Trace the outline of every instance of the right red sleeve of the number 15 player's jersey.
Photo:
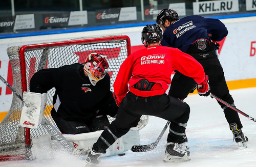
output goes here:
[[201, 83], [205, 79], [203, 66], [196, 61], [191, 55], [173, 48], [173, 66], [183, 75], [193, 78], [196, 82]]

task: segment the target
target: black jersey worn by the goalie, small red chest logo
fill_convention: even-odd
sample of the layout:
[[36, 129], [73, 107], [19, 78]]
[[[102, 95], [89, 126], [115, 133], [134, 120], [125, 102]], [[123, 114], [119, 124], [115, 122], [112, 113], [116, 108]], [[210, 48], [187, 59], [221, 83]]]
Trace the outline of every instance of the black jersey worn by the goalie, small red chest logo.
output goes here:
[[118, 107], [110, 91], [109, 74], [93, 86], [84, 74], [83, 66], [76, 63], [39, 70], [31, 78], [30, 92], [46, 93], [56, 89], [52, 117], [57, 113], [63, 119], [83, 121], [97, 116], [98, 110], [112, 117], [116, 115]]

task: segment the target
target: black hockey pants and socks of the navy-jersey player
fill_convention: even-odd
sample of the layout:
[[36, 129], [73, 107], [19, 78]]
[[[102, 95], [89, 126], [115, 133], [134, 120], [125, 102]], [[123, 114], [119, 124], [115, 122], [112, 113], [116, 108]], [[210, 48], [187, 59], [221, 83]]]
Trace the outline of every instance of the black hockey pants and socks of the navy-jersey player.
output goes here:
[[[202, 64], [205, 74], [209, 77], [210, 92], [227, 103], [233, 104], [234, 100], [229, 94], [223, 68], [217, 56], [214, 58], [198, 60], [198, 62]], [[172, 79], [169, 94], [179, 99], [185, 99], [195, 86], [196, 82], [193, 78], [187, 77], [180, 72], [176, 72]], [[238, 113], [233, 109], [226, 107], [221, 102], [218, 101], [218, 103], [224, 109], [225, 118], [228, 124], [237, 123], [238, 129], [241, 129], [243, 126]]]

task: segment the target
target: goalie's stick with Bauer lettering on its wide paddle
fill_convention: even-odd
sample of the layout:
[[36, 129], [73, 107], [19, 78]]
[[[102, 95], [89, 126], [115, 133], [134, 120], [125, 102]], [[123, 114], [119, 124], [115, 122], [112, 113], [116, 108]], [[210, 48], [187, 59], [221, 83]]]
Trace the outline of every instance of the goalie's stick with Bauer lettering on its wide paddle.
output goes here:
[[[0, 75], [0, 79], [10, 88], [13, 93], [22, 101], [24, 101], [23, 97], [20, 96], [15, 89]], [[73, 153], [75, 147], [69, 143], [69, 141], [62, 136], [62, 134], [51, 125], [51, 123], [43, 116], [41, 125], [46, 128], [46, 130], [70, 153]]]

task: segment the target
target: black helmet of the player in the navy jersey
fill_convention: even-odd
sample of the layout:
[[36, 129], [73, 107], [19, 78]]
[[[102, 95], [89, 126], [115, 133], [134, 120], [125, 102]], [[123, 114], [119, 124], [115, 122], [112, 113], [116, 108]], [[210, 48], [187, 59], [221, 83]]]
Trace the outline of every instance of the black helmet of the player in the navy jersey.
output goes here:
[[178, 13], [173, 9], [163, 9], [159, 14], [157, 15], [157, 24], [163, 24], [165, 19], [169, 21], [174, 21], [179, 19]]

